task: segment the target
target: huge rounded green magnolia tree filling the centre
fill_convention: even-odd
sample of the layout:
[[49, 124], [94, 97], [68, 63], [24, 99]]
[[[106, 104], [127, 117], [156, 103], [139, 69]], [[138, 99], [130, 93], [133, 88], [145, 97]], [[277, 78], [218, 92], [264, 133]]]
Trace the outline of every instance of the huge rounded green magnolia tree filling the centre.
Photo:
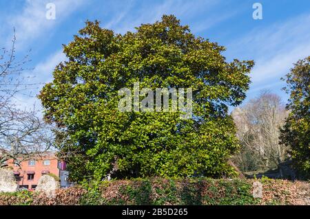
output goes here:
[[[72, 180], [233, 173], [227, 160], [238, 141], [227, 107], [245, 99], [254, 62], [226, 62], [224, 50], [174, 16], [124, 35], [87, 22], [39, 95]], [[134, 82], [192, 88], [193, 117], [119, 111], [118, 90]]]

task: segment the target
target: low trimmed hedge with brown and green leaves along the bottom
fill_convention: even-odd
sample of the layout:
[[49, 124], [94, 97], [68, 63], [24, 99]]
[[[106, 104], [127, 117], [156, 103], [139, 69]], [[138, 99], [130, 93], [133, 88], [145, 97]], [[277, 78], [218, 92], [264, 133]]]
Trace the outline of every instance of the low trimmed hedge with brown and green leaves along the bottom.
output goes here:
[[250, 179], [143, 178], [105, 181], [44, 193], [1, 193], [0, 205], [310, 205], [307, 182], [262, 178], [253, 198]]

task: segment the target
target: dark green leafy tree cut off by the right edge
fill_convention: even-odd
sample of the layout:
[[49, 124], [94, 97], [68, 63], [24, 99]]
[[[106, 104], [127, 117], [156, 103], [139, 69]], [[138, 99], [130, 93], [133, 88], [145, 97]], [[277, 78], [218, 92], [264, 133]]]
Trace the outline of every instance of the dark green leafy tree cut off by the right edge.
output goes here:
[[281, 130], [281, 141], [291, 147], [296, 168], [300, 174], [310, 177], [310, 56], [299, 60], [287, 73], [290, 94], [287, 109], [290, 111], [285, 127]]

